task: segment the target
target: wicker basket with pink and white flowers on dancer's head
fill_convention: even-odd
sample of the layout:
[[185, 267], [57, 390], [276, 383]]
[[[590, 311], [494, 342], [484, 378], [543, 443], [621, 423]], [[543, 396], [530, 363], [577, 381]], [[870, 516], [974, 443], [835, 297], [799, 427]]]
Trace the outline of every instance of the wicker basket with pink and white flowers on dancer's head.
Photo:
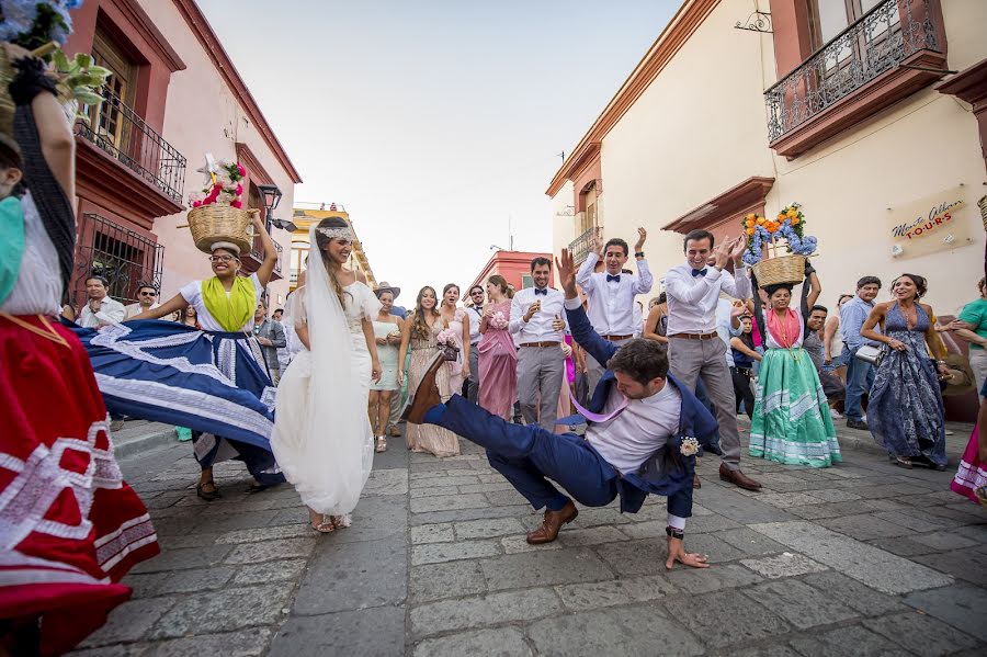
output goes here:
[[249, 252], [253, 243], [251, 212], [243, 209], [243, 184], [247, 170], [232, 160], [213, 159], [206, 154], [206, 163], [198, 169], [206, 179], [202, 191], [190, 197], [189, 228], [195, 247], [205, 253], [213, 245], [227, 242], [239, 251]]

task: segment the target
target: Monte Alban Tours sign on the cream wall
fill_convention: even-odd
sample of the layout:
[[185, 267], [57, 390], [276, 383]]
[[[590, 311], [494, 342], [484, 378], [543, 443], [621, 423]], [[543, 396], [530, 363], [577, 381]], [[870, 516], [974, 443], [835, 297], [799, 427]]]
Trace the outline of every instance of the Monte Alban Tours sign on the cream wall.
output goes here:
[[965, 186], [958, 185], [889, 208], [887, 226], [892, 257], [912, 258], [972, 243], [965, 191]]

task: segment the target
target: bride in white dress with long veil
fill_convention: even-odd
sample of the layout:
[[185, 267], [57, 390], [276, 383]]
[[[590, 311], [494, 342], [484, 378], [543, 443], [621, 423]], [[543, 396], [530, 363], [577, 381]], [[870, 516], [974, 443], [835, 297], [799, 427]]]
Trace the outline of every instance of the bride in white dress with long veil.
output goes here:
[[281, 377], [271, 437], [313, 529], [324, 533], [350, 526], [374, 458], [366, 404], [371, 380], [381, 377], [373, 329], [381, 302], [343, 268], [352, 242], [353, 230], [340, 218], [309, 230], [317, 250], [284, 318], [304, 349]]

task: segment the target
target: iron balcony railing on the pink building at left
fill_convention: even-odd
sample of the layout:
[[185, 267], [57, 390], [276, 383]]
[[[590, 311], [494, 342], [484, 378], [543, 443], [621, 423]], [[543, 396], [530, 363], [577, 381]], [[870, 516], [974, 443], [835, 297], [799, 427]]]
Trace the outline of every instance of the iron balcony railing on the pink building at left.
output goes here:
[[100, 94], [103, 103], [98, 107], [88, 107], [86, 114], [89, 121], [78, 121], [76, 134], [175, 203], [182, 203], [185, 156], [107, 88], [104, 87]]

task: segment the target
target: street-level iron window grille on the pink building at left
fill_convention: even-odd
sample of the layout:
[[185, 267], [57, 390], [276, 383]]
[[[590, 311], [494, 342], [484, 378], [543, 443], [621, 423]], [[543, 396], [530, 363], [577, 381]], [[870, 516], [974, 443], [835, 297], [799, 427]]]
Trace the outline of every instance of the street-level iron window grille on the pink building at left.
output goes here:
[[163, 267], [163, 246], [106, 217], [84, 213], [76, 243], [72, 304], [86, 303], [86, 279], [94, 275], [110, 282], [110, 296], [132, 304], [140, 285], [161, 290]]

